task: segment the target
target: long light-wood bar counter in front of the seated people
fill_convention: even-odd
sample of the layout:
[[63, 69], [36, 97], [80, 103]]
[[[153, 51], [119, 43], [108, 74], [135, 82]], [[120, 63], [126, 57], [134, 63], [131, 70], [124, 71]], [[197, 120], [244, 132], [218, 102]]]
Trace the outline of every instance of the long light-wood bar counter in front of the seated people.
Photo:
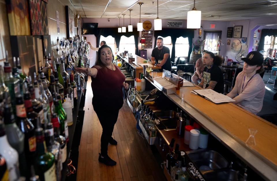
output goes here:
[[[157, 73], [157, 76], [162, 76], [162, 73]], [[158, 88], [151, 78], [145, 77], [145, 79]], [[194, 89], [201, 88], [198, 86], [181, 87], [174, 94], [164, 93], [164, 95], [193, 117], [212, 136], [257, 171], [265, 180], [276, 180], [277, 126], [235, 104], [215, 104], [199, 95], [193, 95], [190, 91]], [[185, 103], [181, 103], [182, 94], [185, 95]], [[248, 128], [258, 130], [255, 135], [255, 146], [248, 146], [245, 143], [250, 135]], [[175, 135], [180, 149], [188, 149], [188, 146], [184, 144], [184, 137], [178, 138], [175, 130], [159, 130], [159, 133], [168, 145]]]

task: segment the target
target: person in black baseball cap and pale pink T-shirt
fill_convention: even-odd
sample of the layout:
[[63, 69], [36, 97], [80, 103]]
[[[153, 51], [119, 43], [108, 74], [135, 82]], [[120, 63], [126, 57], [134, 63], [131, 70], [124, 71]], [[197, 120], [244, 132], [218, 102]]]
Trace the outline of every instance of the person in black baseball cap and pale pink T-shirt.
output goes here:
[[263, 55], [258, 51], [251, 51], [244, 61], [243, 70], [237, 75], [235, 86], [227, 94], [235, 100], [238, 106], [257, 114], [263, 107], [265, 83], [259, 75], [264, 71]]

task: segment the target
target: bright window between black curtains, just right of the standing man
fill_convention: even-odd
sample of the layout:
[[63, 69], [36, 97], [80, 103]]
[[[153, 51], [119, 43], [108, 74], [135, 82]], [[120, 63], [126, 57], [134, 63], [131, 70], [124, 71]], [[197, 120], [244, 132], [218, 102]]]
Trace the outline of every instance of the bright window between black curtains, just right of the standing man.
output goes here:
[[175, 43], [175, 56], [176, 57], [188, 57], [188, 49], [190, 45], [188, 44], [188, 37], [179, 37]]

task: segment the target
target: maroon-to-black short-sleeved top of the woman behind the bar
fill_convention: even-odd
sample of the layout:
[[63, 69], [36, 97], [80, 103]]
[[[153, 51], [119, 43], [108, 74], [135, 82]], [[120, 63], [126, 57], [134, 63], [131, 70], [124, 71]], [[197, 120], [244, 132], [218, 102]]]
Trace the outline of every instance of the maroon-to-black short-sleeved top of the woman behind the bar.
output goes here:
[[94, 65], [92, 68], [98, 71], [95, 78], [91, 77], [93, 108], [119, 110], [123, 105], [122, 87], [125, 76], [117, 66], [115, 71], [100, 65]]

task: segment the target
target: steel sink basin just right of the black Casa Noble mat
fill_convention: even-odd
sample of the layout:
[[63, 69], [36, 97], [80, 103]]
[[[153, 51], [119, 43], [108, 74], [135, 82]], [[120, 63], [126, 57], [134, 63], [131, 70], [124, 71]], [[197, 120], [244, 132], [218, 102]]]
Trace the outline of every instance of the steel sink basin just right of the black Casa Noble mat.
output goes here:
[[218, 152], [212, 150], [191, 151], [188, 157], [202, 171], [216, 170], [228, 167], [228, 162]]

